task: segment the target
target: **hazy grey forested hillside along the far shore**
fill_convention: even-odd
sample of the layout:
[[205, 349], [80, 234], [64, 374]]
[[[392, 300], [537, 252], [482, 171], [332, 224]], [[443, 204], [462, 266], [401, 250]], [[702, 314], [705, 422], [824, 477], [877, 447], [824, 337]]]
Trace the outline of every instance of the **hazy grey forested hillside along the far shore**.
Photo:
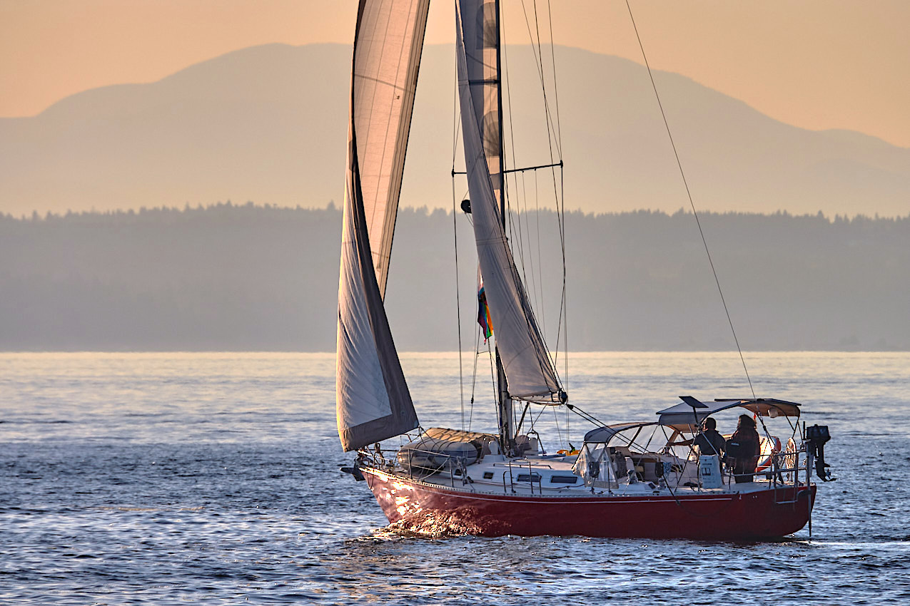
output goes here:
[[[455, 219], [399, 212], [387, 307], [402, 351], [458, 347], [455, 224], [474, 342], [470, 223]], [[910, 349], [910, 216], [701, 220], [744, 350]], [[331, 205], [229, 203], [0, 217], [0, 349], [331, 351], [340, 223]], [[551, 346], [556, 227], [551, 212], [511, 221]], [[692, 214], [570, 213], [565, 233], [570, 349], [734, 348]]]

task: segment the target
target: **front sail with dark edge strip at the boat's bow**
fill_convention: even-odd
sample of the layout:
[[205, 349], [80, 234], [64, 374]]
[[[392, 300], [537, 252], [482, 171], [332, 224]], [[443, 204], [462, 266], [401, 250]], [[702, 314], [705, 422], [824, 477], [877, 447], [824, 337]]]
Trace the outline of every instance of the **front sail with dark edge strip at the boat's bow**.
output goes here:
[[429, 0], [360, 0], [339, 276], [336, 415], [346, 451], [418, 426], [382, 298]]

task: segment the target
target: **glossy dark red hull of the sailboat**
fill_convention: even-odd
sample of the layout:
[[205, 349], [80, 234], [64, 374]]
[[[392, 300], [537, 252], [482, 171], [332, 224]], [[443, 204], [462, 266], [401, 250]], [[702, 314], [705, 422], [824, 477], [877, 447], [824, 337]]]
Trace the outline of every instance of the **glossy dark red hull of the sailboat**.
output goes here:
[[[430, 534], [754, 540], [802, 529], [815, 486], [736, 494], [548, 497], [483, 494], [361, 468], [389, 522]], [[794, 492], [796, 492], [794, 499]], [[811, 495], [811, 496], [810, 496]]]

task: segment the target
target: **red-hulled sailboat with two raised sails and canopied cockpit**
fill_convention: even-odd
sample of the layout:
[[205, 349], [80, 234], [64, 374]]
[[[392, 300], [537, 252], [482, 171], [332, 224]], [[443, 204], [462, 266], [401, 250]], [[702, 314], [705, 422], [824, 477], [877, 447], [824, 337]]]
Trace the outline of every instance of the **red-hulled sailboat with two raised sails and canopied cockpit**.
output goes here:
[[[464, 210], [492, 324], [498, 427], [420, 424], [383, 300], [428, 8], [429, 0], [359, 2], [336, 365], [339, 437], [357, 454], [343, 471], [366, 482], [395, 528], [434, 535], [742, 540], [804, 528], [813, 469], [830, 479], [830, 436], [824, 426], [801, 426], [799, 403], [682, 396], [655, 418], [604, 425], [571, 402], [507, 237], [499, 0], [455, 2]], [[543, 452], [535, 432], [522, 432], [516, 402], [579, 412], [591, 431], [577, 450]], [[725, 452], [700, 442], [705, 420], [731, 411], [763, 432], [744, 470], [731, 456], [735, 441], [724, 442]], [[773, 420], [788, 424], [785, 448], [767, 427]]]

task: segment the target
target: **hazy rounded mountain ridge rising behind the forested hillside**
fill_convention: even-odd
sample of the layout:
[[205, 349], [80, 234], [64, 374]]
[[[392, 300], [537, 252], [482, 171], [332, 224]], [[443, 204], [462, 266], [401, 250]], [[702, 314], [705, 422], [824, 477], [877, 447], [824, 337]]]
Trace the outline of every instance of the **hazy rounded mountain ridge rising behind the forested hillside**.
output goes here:
[[[510, 47], [513, 90], [536, 77], [529, 48]], [[567, 207], [688, 204], [644, 67], [571, 47], [555, 53]], [[2, 118], [0, 210], [338, 201], [349, 55], [348, 45], [254, 46], [155, 83], [91, 89], [30, 118]], [[450, 207], [451, 63], [449, 45], [425, 48], [402, 204]], [[808, 131], [687, 76], [654, 75], [700, 210], [905, 214], [910, 149]], [[540, 100], [513, 95], [516, 162], [543, 164]]]

